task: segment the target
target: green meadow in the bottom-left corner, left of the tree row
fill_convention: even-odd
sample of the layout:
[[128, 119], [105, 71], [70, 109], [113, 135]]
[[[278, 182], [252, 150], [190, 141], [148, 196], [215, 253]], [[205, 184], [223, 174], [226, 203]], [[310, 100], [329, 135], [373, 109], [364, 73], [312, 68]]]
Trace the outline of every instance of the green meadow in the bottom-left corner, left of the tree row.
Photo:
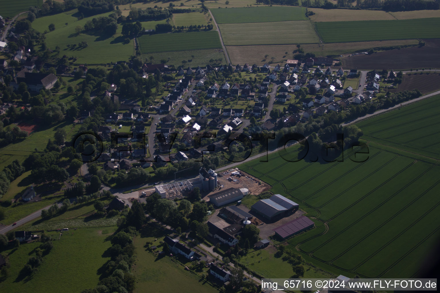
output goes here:
[[18, 274], [28, 258], [35, 256], [34, 249], [40, 246], [40, 242], [3, 251], [2, 254], [8, 255], [11, 267], [9, 276], [1, 286], [9, 293], [21, 293], [25, 287], [33, 288], [32, 291], [36, 293], [76, 293], [94, 288], [99, 282], [99, 269], [110, 259], [103, 253], [110, 247], [108, 237], [115, 230], [116, 227], [79, 228], [64, 233], [59, 241], [59, 233], [48, 232], [56, 239], [54, 247], [43, 257], [38, 271], [29, 280], [19, 278]]

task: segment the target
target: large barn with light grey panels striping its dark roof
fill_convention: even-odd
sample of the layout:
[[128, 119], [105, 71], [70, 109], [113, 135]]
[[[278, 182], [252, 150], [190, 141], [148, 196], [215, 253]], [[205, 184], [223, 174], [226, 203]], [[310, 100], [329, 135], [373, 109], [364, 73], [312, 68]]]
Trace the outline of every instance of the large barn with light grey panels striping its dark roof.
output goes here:
[[268, 221], [275, 221], [286, 217], [296, 212], [298, 208], [299, 205], [297, 203], [280, 194], [272, 195], [269, 199], [260, 199], [251, 206], [253, 212], [258, 213]]

